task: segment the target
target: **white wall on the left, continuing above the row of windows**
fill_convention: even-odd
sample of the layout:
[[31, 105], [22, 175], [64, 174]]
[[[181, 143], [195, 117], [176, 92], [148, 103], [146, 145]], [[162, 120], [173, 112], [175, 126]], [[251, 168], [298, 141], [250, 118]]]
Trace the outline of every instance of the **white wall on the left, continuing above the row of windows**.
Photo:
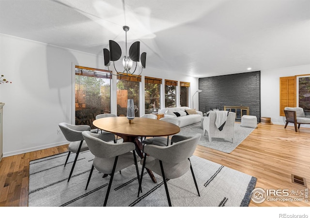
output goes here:
[[[62, 134], [57, 135], [57, 129], [59, 123], [72, 123], [74, 117], [72, 66], [105, 69], [102, 54], [91, 55], [3, 34], [0, 47], [0, 74], [12, 81], [0, 84], [0, 102], [5, 103], [3, 156], [67, 143]], [[191, 92], [198, 89], [198, 78], [176, 77], [148, 67], [143, 75], [190, 82]]]

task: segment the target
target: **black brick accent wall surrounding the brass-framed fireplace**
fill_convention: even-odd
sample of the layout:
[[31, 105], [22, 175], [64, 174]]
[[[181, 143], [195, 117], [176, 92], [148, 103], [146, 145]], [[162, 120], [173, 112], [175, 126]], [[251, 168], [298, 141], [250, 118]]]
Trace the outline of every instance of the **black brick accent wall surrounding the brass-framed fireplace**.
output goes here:
[[[248, 115], [261, 117], [261, 72], [199, 78], [199, 110], [224, 110], [225, 106], [248, 107]], [[240, 121], [240, 120], [236, 120]]]

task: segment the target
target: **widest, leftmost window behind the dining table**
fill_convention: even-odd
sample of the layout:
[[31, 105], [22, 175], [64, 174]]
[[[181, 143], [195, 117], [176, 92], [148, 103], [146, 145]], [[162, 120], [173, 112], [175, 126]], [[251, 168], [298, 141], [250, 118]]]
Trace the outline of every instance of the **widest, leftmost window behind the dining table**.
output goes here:
[[92, 125], [96, 115], [110, 113], [111, 74], [107, 70], [76, 66], [76, 125]]

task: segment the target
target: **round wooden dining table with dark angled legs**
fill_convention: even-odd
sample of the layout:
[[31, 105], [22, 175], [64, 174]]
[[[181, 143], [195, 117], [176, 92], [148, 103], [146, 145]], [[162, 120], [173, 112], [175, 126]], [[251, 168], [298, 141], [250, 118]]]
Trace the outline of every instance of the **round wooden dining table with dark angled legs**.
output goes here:
[[[166, 121], [136, 117], [129, 123], [127, 117], [105, 117], [93, 121], [99, 129], [114, 133], [125, 141], [135, 143], [136, 152], [143, 158], [143, 145], [139, 137], [171, 136], [180, 132], [180, 127]], [[152, 171], [147, 170], [153, 182], [156, 179]]]

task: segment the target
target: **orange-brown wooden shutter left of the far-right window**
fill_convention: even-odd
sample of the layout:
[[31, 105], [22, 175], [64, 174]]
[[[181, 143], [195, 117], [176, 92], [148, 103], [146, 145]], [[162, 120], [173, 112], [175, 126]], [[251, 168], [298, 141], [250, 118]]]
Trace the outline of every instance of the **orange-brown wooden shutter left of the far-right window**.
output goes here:
[[285, 107], [296, 107], [296, 77], [280, 77], [280, 116]]

